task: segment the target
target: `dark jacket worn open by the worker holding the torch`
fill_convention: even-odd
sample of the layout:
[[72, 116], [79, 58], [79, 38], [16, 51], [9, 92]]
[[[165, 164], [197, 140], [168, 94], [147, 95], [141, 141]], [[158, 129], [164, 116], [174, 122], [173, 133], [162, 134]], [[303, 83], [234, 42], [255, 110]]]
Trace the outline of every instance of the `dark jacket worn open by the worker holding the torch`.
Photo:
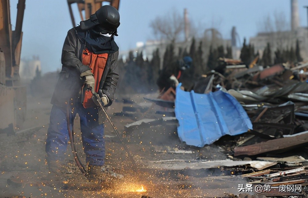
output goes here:
[[[51, 98], [51, 104], [65, 107], [67, 103], [80, 102], [80, 90], [84, 84], [81, 73], [90, 70], [87, 65], [82, 64], [82, 52], [84, 43], [78, 38], [77, 31], [83, 31], [79, 27], [70, 29], [64, 41], [62, 49], [62, 70], [58, 83]], [[118, 72], [119, 51], [108, 54], [106, 67], [99, 83], [99, 89], [106, 94], [110, 106], [114, 100], [114, 93], [119, 79]], [[91, 72], [91, 71], [89, 71]]]

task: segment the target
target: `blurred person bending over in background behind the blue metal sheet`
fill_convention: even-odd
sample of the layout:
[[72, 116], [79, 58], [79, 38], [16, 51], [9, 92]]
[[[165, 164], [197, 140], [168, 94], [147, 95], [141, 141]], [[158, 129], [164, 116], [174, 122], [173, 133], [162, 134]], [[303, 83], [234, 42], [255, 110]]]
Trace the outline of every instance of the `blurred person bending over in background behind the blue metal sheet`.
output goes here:
[[190, 56], [184, 56], [182, 59], [172, 62], [160, 71], [160, 76], [157, 80], [160, 92], [167, 91], [170, 87], [175, 90], [179, 82], [185, 81], [183, 79], [183, 73], [191, 67], [192, 62], [193, 60]]

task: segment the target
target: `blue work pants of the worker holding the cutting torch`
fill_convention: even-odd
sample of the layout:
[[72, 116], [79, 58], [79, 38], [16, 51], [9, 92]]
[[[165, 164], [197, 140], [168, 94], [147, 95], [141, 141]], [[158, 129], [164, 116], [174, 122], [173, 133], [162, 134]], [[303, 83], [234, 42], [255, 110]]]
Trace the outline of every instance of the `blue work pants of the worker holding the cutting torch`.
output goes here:
[[[76, 113], [80, 117], [81, 138], [87, 164], [103, 166], [105, 163], [104, 125], [99, 124], [98, 108], [85, 109], [81, 104], [70, 108], [70, 123], [73, 123]], [[67, 109], [53, 105], [46, 140], [47, 162], [64, 159], [69, 141], [66, 115]]]

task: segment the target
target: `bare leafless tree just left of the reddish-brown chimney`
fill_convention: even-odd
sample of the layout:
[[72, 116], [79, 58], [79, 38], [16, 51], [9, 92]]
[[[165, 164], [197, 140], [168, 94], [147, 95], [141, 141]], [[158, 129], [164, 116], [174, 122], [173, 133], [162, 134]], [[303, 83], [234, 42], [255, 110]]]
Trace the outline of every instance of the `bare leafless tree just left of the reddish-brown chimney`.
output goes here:
[[150, 23], [154, 35], [175, 43], [184, 30], [184, 17], [180, 13], [182, 12], [173, 10], [169, 14], [156, 17]]

